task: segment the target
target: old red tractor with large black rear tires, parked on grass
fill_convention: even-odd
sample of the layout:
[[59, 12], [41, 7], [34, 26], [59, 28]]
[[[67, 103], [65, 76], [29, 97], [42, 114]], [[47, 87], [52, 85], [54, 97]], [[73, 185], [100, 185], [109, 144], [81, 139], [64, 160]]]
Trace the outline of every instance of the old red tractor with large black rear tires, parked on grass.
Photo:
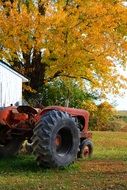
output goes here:
[[85, 110], [51, 106], [42, 110], [10, 106], [0, 110], [0, 157], [16, 155], [27, 140], [37, 163], [64, 167], [93, 151]]

